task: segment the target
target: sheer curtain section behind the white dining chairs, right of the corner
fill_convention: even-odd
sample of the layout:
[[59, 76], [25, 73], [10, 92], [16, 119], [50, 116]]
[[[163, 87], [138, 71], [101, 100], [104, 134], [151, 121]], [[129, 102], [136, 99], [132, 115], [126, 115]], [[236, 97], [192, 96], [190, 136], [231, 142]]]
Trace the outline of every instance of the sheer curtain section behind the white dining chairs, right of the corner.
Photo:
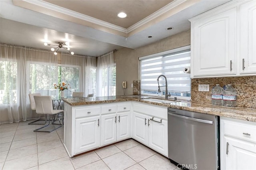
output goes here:
[[26, 47], [26, 119], [39, 118], [30, 109], [29, 93], [58, 96], [54, 83], [58, 80], [57, 56], [51, 51]]

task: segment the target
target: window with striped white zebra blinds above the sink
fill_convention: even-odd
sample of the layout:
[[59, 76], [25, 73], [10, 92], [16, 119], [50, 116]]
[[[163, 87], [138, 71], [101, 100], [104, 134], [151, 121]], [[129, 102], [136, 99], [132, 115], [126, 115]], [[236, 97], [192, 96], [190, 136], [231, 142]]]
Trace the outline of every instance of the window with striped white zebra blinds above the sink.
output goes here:
[[[141, 95], [164, 97], [165, 89], [158, 92], [158, 75], [165, 75], [170, 98], [191, 98], [190, 73], [184, 73], [185, 67], [190, 67], [190, 45], [140, 57]], [[159, 85], [164, 86], [165, 80], [159, 79]]]

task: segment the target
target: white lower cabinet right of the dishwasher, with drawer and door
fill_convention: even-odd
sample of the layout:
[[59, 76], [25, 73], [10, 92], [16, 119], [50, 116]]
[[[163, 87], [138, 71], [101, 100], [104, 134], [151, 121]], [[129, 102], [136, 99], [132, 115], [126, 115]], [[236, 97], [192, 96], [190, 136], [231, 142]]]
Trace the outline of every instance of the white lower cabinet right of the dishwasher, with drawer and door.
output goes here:
[[256, 123], [220, 118], [220, 166], [222, 170], [256, 167]]

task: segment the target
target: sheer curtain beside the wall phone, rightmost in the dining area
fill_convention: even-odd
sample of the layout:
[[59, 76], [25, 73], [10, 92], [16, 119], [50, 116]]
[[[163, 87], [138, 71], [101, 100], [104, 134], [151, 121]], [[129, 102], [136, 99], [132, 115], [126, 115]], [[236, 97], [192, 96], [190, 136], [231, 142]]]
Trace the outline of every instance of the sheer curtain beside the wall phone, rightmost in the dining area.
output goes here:
[[[112, 76], [114, 66], [113, 51], [97, 58], [97, 96], [115, 95], [115, 77]], [[115, 68], [114, 68], [115, 69]]]

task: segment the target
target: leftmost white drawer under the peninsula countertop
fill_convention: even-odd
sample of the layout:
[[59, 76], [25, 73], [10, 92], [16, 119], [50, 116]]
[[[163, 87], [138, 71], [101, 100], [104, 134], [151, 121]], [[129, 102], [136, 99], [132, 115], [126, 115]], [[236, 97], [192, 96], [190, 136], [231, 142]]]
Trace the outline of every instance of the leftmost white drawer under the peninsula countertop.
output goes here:
[[76, 108], [76, 118], [100, 115], [100, 106], [98, 107], [86, 107], [86, 108]]

